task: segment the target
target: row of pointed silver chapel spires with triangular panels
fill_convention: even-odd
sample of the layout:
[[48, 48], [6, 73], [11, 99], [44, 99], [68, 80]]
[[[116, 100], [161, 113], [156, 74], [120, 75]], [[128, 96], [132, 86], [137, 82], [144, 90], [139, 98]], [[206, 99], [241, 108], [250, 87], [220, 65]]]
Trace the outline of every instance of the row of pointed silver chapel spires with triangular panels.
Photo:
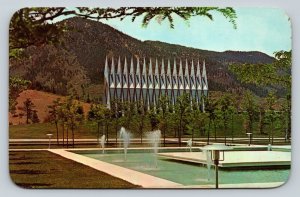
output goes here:
[[[194, 63], [192, 60], [183, 62], [181, 59], [172, 62], [170, 59], [155, 62], [149, 58], [147, 62], [144, 58], [141, 61], [143, 69], [141, 70], [140, 59], [136, 58], [136, 66], [133, 57], [128, 65], [126, 57], [123, 66], [121, 58], [118, 58], [117, 68], [115, 59], [111, 58], [111, 66], [108, 59], [105, 59], [104, 68], [104, 88], [105, 103], [111, 108], [114, 100], [121, 102], [139, 102], [142, 101], [147, 109], [156, 107], [160, 96], [168, 96], [169, 103], [175, 105], [177, 97], [187, 93], [192, 102], [196, 102], [201, 110], [204, 110], [204, 96], [208, 94], [208, 83], [206, 76], [205, 61], [202, 63], [202, 71], [200, 70], [199, 60]], [[153, 64], [155, 69], [153, 72]], [[165, 72], [166, 64], [166, 72]], [[179, 70], [177, 66], [179, 64]], [[129, 66], [129, 72], [128, 72]], [[171, 71], [171, 66], [173, 71]], [[185, 72], [183, 72], [183, 67]], [[191, 103], [192, 104], [192, 103]]]

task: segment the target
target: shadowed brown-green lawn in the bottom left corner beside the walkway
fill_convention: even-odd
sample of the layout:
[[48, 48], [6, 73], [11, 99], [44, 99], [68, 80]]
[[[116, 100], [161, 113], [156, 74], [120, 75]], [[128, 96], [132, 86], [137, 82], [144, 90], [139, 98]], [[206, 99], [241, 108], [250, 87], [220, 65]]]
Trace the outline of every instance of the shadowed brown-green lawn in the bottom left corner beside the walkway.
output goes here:
[[24, 188], [137, 188], [106, 173], [48, 151], [11, 151], [12, 181]]

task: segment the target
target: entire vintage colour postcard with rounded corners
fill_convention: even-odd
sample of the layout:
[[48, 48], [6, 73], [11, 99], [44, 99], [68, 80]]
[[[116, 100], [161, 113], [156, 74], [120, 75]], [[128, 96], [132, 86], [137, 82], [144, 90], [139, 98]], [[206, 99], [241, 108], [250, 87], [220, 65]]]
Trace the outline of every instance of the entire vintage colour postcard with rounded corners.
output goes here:
[[9, 27], [23, 188], [274, 188], [291, 167], [291, 22], [238, 7], [32, 7]]

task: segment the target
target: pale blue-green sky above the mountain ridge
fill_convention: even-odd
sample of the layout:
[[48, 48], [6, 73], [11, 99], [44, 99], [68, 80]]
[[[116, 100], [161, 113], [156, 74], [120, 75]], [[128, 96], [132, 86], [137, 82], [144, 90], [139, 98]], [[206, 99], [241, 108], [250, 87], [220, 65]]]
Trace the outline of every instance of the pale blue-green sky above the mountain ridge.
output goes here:
[[213, 51], [261, 51], [270, 56], [291, 50], [291, 23], [283, 10], [273, 8], [234, 8], [237, 29], [222, 15], [213, 12], [214, 20], [197, 16], [185, 22], [174, 17], [175, 28], [168, 21], [152, 20], [142, 27], [142, 17], [101, 20], [139, 40], [157, 40]]

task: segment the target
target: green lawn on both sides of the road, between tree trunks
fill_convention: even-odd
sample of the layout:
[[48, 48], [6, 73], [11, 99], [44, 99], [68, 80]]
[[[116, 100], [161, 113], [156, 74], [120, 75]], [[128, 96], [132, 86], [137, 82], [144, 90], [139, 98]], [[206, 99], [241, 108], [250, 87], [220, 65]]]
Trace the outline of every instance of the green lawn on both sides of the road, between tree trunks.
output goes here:
[[[208, 121], [208, 120], [207, 120]], [[119, 123], [119, 128], [121, 126], [121, 122]], [[137, 126], [137, 123], [134, 123], [134, 121], [131, 122], [131, 128], [129, 129], [130, 132], [132, 133], [132, 137], [134, 138], [140, 138], [141, 133], [139, 131], [139, 128]], [[145, 128], [144, 128], [144, 132], [143, 135], [145, 134], [145, 131], [150, 131], [151, 127], [149, 125], [149, 123], [145, 124]], [[169, 125], [168, 127], [168, 131], [166, 132], [166, 137], [178, 137], [175, 136], [175, 130], [176, 127], [174, 127], [174, 125]], [[205, 133], [200, 133], [199, 130], [195, 130], [194, 131], [194, 137], [201, 137], [204, 138], [204, 140], [206, 141], [205, 138], [207, 138], [207, 130], [208, 130], [208, 122], [206, 123], [206, 132]], [[254, 144], [268, 144], [270, 143], [268, 140], [268, 133], [270, 132], [270, 127], [267, 125], [265, 128], [265, 134], [262, 135], [259, 132], [259, 125], [257, 122], [255, 122], [254, 124], [254, 133], [253, 133], [253, 137], [254, 138], [258, 138], [258, 137], [263, 137], [266, 138], [265, 140], [260, 140], [260, 141], [253, 141]], [[104, 127], [101, 126], [100, 127], [100, 136], [102, 135], [102, 132], [104, 131]], [[217, 137], [224, 137], [225, 132], [224, 132], [224, 128], [223, 128], [223, 123], [222, 121], [218, 122], [218, 125], [216, 127], [216, 131], [217, 131]], [[228, 125], [228, 130], [227, 130], [227, 142], [231, 143], [231, 132], [232, 132], [232, 126], [231, 126], [231, 122], [229, 122]], [[52, 133], [53, 134], [53, 139], [56, 139], [56, 129], [55, 129], [55, 125], [51, 124], [51, 123], [38, 123], [38, 124], [28, 124], [28, 125], [10, 125], [9, 126], [9, 137], [10, 139], [47, 139], [46, 134], [47, 133]], [[95, 124], [95, 122], [90, 122], [90, 121], [85, 121], [83, 122], [78, 128], [76, 128], [75, 130], [75, 139], [97, 139], [97, 126]], [[108, 137], [110, 139], [115, 139], [116, 137], [116, 130], [115, 130], [115, 125], [112, 123], [109, 126], [108, 129]], [[145, 136], [145, 135], [144, 135]], [[237, 137], [242, 137], [242, 138], [248, 138], [248, 136], [245, 134], [245, 130], [243, 128], [243, 117], [241, 115], [236, 116], [235, 120], [234, 120], [234, 125], [233, 125], [233, 136], [235, 138]], [[69, 131], [69, 142], [70, 144], [72, 144], [72, 134], [71, 131]], [[107, 137], [107, 136], [106, 136]], [[184, 135], [182, 136], [184, 138], [192, 138], [191, 135], [191, 131], [190, 130], [185, 130]], [[281, 137], [284, 138], [285, 137], [285, 133], [284, 133], [284, 129], [283, 128], [277, 128], [274, 130], [274, 137]], [[62, 128], [61, 126], [59, 126], [59, 138], [62, 139]], [[65, 140], [67, 138], [67, 131], [65, 130]], [[202, 139], [203, 141], [203, 139]], [[213, 124], [211, 125], [211, 129], [210, 129], [210, 143], [213, 143], [214, 141], [214, 126]], [[224, 142], [224, 139], [219, 139], [217, 142]], [[245, 140], [242, 141], [234, 141], [234, 143], [248, 143]], [[52, 143], [53, 146], [52, 148], [62, 148], [62, 143], [60, 143], [59, 146], [56, 146], [56, 143]], [[274, 144], [290, 144], [289, 142], [285, 142], [284, 140], [281, 140], [280, 142], [274, 142]], [[178, 144], [173, 143], [172, 146], [177, 146]], [[107, 147], [112, 146], [115, 147], [116, 145], [113, 144], [107, 144]], [[141, 144], [138, 146], [142, 146]], [[169, 145], [167, 145], [169, 146]], [[182, 146], [184, 146], [184, 144], [182, 144]], [[46, 148], [47, 147], [47, 142], [42, 143], [35, 143], [35, 144], [16, 144], [16, 143], [11, 143], [10, 144], [10, 148]], [[66, 146], [64, 146], [66, 147]], [[99, 147], [99, 144], [97, 144], [96, 142], [94, 143], [75, 143], [75, 147], [79, 148], [79, 147], [91, 147], [91, 148], [95, 148], [95, 147]]]

